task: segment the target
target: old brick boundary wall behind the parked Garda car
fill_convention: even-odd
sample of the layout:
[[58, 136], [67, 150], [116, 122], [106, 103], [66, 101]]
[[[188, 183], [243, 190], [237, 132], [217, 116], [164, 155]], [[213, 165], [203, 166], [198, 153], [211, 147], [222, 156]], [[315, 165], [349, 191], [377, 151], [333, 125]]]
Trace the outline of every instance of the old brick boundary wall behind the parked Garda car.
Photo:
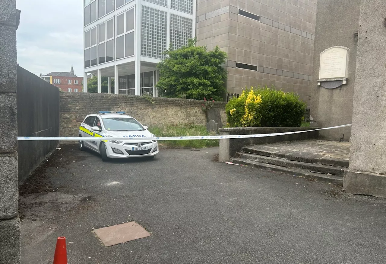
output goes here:
[[[207, 124], [206, 113], [202, 110], [203, 101], [151, 97], [149, 100], [135, 95], [60, 93], [60, 136], [78, 136], [80, 123], [88, 114], [98, 111], [125, 111], [144, 126], [163, 126], [176, 124]], [[220, 111], [223, 124], [226, 124], [226, 102], [215, 102], [214, 108]], [[62, 141], [64, 143], [66, 141]], [[71, 141], [67, 141], [71, 142]]]

